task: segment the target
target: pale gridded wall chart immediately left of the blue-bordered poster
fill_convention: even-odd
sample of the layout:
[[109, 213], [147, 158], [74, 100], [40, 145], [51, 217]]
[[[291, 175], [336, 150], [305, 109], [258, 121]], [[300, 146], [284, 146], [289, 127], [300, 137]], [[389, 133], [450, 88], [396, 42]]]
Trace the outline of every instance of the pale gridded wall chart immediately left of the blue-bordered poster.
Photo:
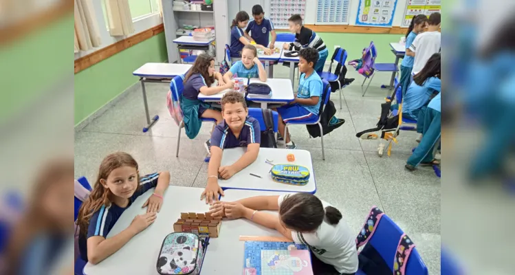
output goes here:
[[348, 25], [349, 0], [318, 0], [316, 25]]

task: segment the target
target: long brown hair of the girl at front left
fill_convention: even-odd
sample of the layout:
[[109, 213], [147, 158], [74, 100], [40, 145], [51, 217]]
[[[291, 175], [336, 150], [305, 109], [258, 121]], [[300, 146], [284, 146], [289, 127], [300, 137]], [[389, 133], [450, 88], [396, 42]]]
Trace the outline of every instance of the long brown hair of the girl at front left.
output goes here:
[[[77, 225], [80, 226], [80, 234], [87, 234], [87, 228], [89, 226], [89, 220], [94, 212], [98, 211], [102, 206], [110, 206], [111, 205], [111, 191], [108, 188], [105, 188], [102, 184], [100, 184], [100, 179], [107, 179], [109, 174], [116, 169], [123, 166], [134, 167], [138, 170], [138, 162], [129, 155], [124, 152], [116, 152], [107, 155], [107, 157], [102, 160], [100, 163], [100, 168], [98, 169], [98, 177], [93, 186], [93, 191], [89, 197], [84, 201], [83, 205], [80, 206], [78, 210], [77, 217]], [[140, 175], [138, 175], [138, 182], [140, 181]], [[139, 186], [138, 186], [139, 188]]]

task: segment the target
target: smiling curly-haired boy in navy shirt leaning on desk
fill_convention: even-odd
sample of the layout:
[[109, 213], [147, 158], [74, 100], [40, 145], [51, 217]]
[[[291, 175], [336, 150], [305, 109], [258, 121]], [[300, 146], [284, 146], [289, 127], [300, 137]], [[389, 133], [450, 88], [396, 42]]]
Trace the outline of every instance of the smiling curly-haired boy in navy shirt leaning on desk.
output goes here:
[[[200, 199], [206, 197], [206, 203], [218, 200], [223, 190], [218, 185], [219, 177], [229, 179], [254, 162], [259, 153], [261, 130], [259, 122], [248, 116], [248, 108], [243, 94], [229, 91], [221, 99], [223, 122], [211, 133], [210, 142], [206, 142], [211, 153], [208, 166], [208, 185]], [[221, 166], [223, 149], [247, 147], [247, 151], [232, 165]]]

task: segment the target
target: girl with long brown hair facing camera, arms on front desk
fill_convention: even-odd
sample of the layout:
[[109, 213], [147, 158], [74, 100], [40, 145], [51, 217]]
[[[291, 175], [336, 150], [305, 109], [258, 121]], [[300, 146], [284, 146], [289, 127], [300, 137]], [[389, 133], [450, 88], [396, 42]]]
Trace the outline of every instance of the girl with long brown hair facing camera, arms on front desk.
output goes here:
[[[131, 155], [123, 152], [107, 155], [100, 164], [91, 194], [78, 212], [80, 257], [93, 264], [100, 263], [149, 227], [161, 210], [169, 183], [168, 171], [140, 177], [138, 163]], [[151, 188], [155, 190], [142, 206], [147, 208], [146, 214], [134, 217], [128, 228], [107, 238], [122, 213]]]

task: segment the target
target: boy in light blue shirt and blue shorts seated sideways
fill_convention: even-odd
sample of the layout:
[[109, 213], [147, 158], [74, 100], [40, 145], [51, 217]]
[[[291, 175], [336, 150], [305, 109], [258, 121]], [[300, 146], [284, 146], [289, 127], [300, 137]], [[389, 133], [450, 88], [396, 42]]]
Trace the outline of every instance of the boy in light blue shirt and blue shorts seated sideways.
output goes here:
[[285, 138], [286, 148], [295, 149], [297, 146], [285, 135], [286, 123], [290, 120], [309, 120], [318, 115], [320, 96], [322, 96], [322, 79], [315, 72], [314, 65], [318, 61], [318, 51], [307, 47], [299, 52], [298, 70], [300, 80], [298, 94], [290, 104], [277, 108], [279, 113], [279, 133]]

